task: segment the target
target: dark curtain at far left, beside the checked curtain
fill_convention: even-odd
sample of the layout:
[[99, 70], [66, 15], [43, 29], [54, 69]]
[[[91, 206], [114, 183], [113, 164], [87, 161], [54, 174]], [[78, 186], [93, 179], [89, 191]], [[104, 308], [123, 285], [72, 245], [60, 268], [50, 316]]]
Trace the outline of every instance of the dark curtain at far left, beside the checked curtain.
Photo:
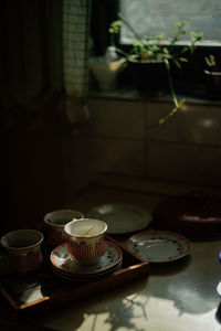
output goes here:
[[63, 88], [62, 1], [1, 1], [1, 106], [40, 107]]

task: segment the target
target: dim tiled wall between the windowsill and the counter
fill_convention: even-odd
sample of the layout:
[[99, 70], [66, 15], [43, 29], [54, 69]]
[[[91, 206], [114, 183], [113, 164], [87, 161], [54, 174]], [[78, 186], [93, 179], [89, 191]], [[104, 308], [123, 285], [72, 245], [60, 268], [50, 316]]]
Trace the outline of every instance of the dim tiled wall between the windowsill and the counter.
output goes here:
[[91, 98], [80, 139], [88, 171], [197, 184], [221, 184], [221, 106], [186, 103], [169, 121], [168, 102]]

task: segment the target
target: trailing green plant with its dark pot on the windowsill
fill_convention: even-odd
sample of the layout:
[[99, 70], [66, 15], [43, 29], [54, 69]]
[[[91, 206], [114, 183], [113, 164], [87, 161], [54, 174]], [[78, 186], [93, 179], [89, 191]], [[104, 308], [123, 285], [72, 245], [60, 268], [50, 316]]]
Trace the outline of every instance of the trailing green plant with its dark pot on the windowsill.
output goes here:
[[[126, 52], [116, 44], [116, 36], [119, 34], [122, 24], [125, 24], [131, 32], [131, 49]], [[125, 58], [124, 65], [128, 66], [131, 79], [144, 95], [152, 95], [155, 92], [169, 90], [175, 108], [158, 124], [171, 117], [183, 104], [183, 99], [178, 102], [171, 75], [171, 64], [181, 68], [183, 62], [188, 62], [186, 55], [192, 54], [197, 42], [202, 40], [203, 33], [190, 32], [188, 45], [176, 47], [181, 36], [187, 34], [188, 22], [175, 22], [176, 30], [173, 36], [166, 41], [166, 34], [160, 33], [152, 38], [150, 35], [140, 36], [138, 32], [120, 14], [119, 20], [114, 21], [109, 26], [110, 43], [116, 52]]]

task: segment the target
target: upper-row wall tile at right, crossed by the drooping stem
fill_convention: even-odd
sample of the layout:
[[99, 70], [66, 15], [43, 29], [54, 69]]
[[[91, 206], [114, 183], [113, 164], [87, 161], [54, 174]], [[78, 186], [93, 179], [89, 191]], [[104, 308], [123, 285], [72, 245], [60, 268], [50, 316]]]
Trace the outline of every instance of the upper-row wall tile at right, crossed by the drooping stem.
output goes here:
[[[172, 105], [167, 103], [146, 104], [146, 125], [157, 122], [171, 108]], [[147, 129], [146, 137], [151, 140], [220, 146], [221, 107], [185, 104], [167, 122]]]

